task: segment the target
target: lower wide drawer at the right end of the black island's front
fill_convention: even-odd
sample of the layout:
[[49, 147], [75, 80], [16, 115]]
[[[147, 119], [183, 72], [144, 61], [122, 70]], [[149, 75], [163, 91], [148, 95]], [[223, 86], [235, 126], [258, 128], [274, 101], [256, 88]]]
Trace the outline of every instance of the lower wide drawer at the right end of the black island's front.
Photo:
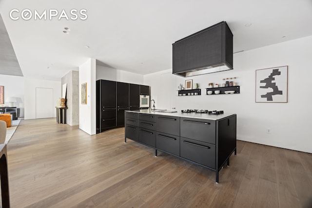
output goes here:
[[180, 156], [215, 169], [215, 145], [180, 137]]

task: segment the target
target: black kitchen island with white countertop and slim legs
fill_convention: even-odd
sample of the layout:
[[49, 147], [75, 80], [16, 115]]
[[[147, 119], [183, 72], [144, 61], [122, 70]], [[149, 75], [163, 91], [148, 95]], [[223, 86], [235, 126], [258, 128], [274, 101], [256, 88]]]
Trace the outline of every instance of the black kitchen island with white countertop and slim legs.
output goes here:
[[215, 171], [236, 154], [236, 114], [125, 111], [125, 142], [131, 139]]

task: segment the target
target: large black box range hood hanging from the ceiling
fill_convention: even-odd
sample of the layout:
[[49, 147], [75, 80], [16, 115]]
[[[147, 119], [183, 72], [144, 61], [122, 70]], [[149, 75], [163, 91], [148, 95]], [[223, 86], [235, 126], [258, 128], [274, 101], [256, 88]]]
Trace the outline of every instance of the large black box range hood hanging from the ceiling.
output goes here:
[[233, 69], [233, 34], [225, 21], [173, 45], [173, 74], [188, 77]]

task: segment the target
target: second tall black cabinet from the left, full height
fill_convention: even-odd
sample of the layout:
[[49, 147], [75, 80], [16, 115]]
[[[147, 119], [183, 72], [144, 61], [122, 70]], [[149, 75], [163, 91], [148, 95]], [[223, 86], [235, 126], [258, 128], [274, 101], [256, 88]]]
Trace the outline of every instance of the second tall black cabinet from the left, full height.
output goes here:
[[129, 110], [129, 83], [117, 82], [117, 126], [125, 125], [127, 110]]

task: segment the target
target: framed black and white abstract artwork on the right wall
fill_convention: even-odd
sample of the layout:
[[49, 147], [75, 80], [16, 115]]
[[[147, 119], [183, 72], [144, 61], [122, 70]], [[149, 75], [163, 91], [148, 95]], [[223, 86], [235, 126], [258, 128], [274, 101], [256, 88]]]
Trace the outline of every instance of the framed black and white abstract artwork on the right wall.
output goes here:
[[255, 71], [255, 102], [287, 103], [288, 66]]

